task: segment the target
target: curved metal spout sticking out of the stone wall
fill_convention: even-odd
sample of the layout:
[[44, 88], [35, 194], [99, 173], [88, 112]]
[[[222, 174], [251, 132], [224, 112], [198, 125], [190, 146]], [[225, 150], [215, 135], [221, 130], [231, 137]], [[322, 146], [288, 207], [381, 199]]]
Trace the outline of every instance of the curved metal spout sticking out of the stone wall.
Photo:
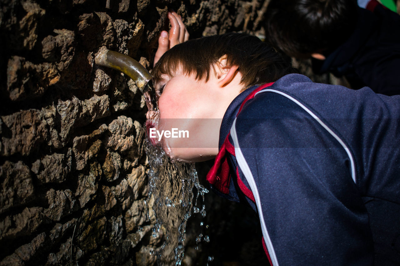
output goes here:
[[110, 50], [103, 50], [96, 55], [94, 60], [100, 66], [110, 67], [128, 75], [143, 93], [149, 111], [158, 109], [156, 93], [151, 82], [153, 77], [139, 62], [127, 55]]

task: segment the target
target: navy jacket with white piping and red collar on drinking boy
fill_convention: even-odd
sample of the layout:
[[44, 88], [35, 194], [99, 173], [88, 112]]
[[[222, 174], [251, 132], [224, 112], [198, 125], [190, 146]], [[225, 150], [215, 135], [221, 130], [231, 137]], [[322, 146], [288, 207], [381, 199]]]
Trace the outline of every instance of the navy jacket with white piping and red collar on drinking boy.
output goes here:
[[258, 212], [274, 266], [373, 265], [364, 199], [400, 204], [400, 96], [299, 74], [264, 87], [227, 109], [207, 180]]

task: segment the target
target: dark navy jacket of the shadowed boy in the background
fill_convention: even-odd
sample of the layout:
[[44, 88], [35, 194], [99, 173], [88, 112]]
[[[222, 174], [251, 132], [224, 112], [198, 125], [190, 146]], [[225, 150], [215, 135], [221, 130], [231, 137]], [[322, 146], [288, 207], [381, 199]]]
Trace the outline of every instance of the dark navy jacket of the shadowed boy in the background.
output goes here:
[[[376, 1], [371, 1], [376, 2]], [[326, 60], [312, 60], [314, 73], [346, 76], [353, 89], [364, 86], [385, 95], [400, 94], [400, 16], [381, 4], [358, 8], [352, 36]]]

